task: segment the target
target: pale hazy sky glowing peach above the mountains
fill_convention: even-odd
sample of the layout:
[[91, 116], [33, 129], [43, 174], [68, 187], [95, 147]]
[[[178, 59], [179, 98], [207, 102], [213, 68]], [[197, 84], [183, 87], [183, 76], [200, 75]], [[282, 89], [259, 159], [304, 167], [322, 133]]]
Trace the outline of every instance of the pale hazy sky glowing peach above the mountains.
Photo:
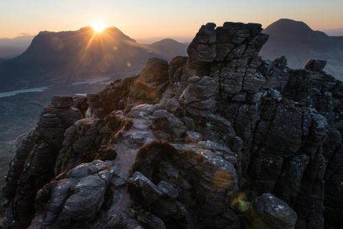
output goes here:
[[281, 18], [313, 29], [343, 27], [343, 0], [0, 0], [0, 37], [42, 30], [75, 30], [96, 21], [115, 25], [132, 38], [193, 36], [200, 25]]

